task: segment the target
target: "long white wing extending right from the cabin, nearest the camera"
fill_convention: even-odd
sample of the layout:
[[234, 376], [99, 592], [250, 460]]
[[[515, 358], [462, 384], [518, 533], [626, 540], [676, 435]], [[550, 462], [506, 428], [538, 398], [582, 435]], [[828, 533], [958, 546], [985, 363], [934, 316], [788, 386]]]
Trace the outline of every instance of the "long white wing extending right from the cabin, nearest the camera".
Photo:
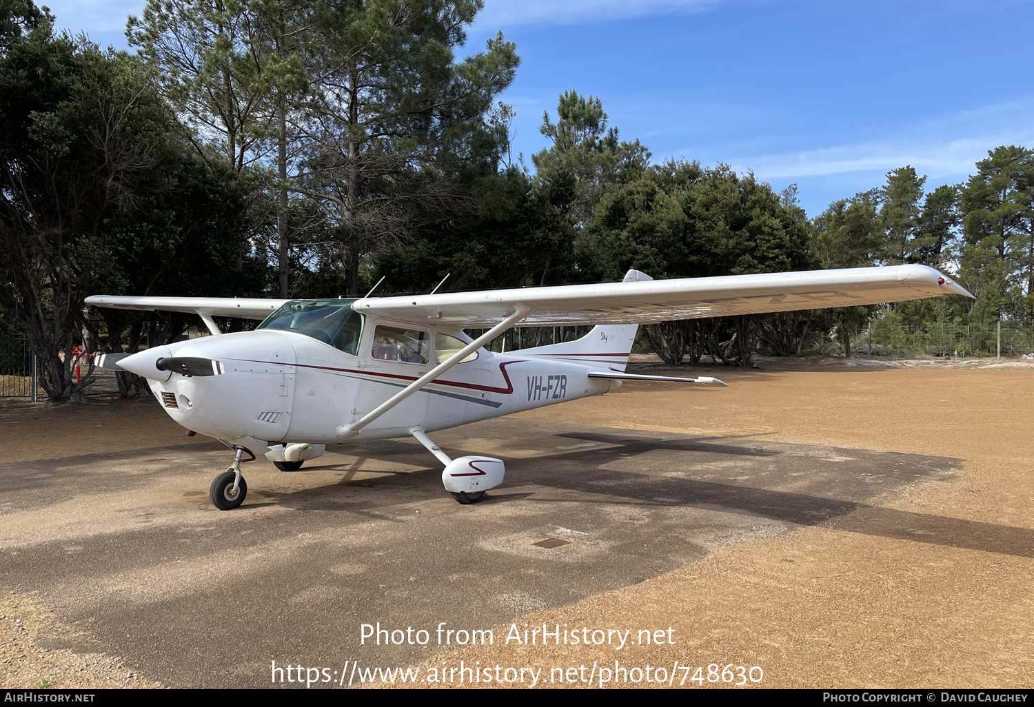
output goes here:
[[917, 265], [798, 273], [730, 275], [677, 280], [495, 289], [359, 300], [357, 311], [461, 327], [496, 324], [515, 307], [530, 307], [523, 324], [653, 324], [731, 314], [783, 312], [919, 300], [966, 289], [933, 268]]

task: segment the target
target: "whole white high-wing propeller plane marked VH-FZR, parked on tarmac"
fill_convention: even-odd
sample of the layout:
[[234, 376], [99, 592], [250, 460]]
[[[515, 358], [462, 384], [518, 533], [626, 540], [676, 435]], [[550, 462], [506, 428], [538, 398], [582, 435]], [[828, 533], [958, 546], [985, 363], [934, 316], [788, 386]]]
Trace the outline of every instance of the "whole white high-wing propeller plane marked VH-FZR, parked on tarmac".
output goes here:
[[[503, 483], [500, 459], [451, 459], [427, 432], [600, 395], [621, 380], [724, 386], [710, 377], [626, 373], [636, 328], [671, 319], [969, 296], [924, 266], [365, 297], [252, 300], [87, 298], [98, 307], [200, 314], [213, 336], [99, 357], [103, 368], [148, 379], [169, 416], [236, 450], [215, 478], [212, 502], [229, 510], [247, 493], [245, 453], [293, 471], [349, 439], [412, 435], [445, 464], [442, 482], [461, 503]], [[222, 334], [212, 316], [262, 319]], [[518, 324], [596, 325], [576, 341], [494, 354], [482, 348]], [[464, 329], [490, 329], [470, 339]]]

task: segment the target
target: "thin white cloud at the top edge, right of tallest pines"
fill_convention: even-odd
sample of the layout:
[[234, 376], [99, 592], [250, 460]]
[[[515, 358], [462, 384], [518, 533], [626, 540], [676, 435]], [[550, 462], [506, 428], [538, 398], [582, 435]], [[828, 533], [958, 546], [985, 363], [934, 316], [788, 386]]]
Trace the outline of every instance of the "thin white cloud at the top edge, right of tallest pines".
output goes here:
[[487, 0], [475, 27], [606, 22], [692, 12], [720, 2], [723, 0]]

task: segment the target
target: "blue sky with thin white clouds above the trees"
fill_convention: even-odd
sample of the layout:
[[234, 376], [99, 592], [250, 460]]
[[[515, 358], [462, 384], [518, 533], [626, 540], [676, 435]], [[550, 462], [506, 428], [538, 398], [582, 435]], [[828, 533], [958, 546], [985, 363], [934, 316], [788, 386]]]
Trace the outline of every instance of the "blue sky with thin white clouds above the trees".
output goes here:
[[[42, 3], [40, 3], [42, 4]], [[60, 27], [125, 47], [143, 0], [50, 0]], [[653, 159], [724, 161], [815, 215], [912, 164], [955, 183], [1003, 144], [1034, 147], [1029, 0], [486, 0], [521, 67], [515, 147], [547, 145], [560, 92], [600, 96]]]

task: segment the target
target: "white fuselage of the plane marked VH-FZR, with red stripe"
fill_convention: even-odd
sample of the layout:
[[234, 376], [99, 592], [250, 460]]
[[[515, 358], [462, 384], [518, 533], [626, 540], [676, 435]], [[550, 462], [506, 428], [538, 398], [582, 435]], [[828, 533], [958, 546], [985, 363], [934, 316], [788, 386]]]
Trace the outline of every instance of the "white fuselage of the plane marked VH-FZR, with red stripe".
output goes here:
[[[470, 339], [456, 327], [365, 317], [342, 347], [287, 330], [202, 337], [149, 349], [154, 358], [222, 363], [220, 375], [169, 372], [150, 379], [180, 425], [219, 439], [332, 443], [351, 424], [427, 373]], [[348, 349], [348, 350], [344, 350]], [[381, 439], [496, 418], [600, 395], [617, 381], [589, 378], [591, 366], [555, 357], [484, 348], [376, 419], [355, 438]]]

